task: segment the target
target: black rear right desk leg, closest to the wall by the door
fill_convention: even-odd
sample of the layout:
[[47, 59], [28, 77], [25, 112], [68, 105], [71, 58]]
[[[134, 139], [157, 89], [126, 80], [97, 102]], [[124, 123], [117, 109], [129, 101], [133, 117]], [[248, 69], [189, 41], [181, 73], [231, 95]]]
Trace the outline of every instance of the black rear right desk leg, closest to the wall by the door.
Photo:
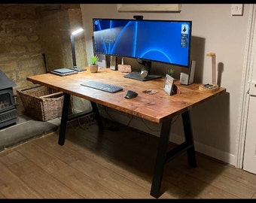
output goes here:
[[183, 129], [185, 141], [191, 144], [191, 147], [187, 149], [187, 160], [188, 164], [194, 168], [197, 167], [197, 159], [194, 147], [193, 131], [190, 120], [190, 111], [186, 111], [182, 114]]

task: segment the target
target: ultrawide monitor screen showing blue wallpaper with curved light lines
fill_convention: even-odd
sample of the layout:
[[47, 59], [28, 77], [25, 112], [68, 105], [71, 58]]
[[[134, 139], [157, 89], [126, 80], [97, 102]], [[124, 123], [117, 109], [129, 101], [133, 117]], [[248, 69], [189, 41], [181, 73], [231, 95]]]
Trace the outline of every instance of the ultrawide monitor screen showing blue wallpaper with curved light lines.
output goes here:
[[94, 52], [190, 66], [192, 22], [93, 18]]

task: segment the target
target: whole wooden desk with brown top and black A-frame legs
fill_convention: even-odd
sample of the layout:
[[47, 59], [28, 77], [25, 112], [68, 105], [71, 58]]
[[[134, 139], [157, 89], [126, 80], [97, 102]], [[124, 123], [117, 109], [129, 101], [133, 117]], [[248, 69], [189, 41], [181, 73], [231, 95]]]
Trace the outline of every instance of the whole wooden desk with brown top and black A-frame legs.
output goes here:
[[[157, 157], [154, 166], [154, 175], [151, 183], [151, 195], [159, 198], [160, 187], [163, 177], [163, 169], [166, 162], [178, 156], [180, 153], [187, 152], [188, 164], [191, 167], [197, 167], [197, 161], [194, 150], [194, 138], [190, 121], [190, 109], [210, 98], [215, 97], [223, 92], [225, 88], [220, 88], [215, 92], [202, 92], [199, 90], [200, 83], [193, 83], [189, 86], [179, 84], [175, 85], [181, 90], [181, 94], [167, 95], [163, 91], [164, 77], [156, 80], [139, 81], [123, 77], [125, 73], [120, 71], [111, 71], [109, 68], [102, 68], [97, 73], [88, 71], [79, 72], [65, 77], [54, 74], [40, 74], [27, 77], [32, 83], [39, 83], [50, 88], [64, 92], [64, 104], [62, 109], [62, 118], [59, 130], [59, 144], [65, 142], [66, 122], [69, 120], [69, 100], [70, 95], [87, 99], [91, 102], [93, 113], [99, 129], [104, 129], [100, 119], [99, 111], [96, 104], [105, 105], [108, 108], [114, 108], [136, 117], [142, 117], [154, 123], [162, 123], [159, 144], [157, 148]], [[87, 80], [98, 80], [105, 83], [123, 86], [123, 90], [115, 93], [103, 92], [97, 89], [81, 86]], [[136, 98], [124, 98], [126, 91], [130, 89], [136, 91], [139, 95]], [[154, 89], [157, 93], [153, 95], [146, 94], [142, 91]], [[172, 118], [181, 114], [184, 143], [167, 152], [169, 144], [169, 135], [171, 131]]]

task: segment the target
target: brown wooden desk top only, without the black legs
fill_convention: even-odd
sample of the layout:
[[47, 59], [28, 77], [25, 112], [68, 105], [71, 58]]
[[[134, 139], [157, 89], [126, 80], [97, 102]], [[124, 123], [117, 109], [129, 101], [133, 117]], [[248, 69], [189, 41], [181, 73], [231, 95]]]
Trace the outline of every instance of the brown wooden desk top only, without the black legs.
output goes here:
[[[221, 87], [215, 92], [202, 92], [199, 90], [200, 83], [184, 86], [176, 80], [175, 85], [181, 90], [181, 94], [170, 96], [163, 91], [164, 77], [155, 80], [140, 81], [123, 77], [126, 73], [112, 71], [110, 68], [99, 68], [97, 73], [90, 73], [88, 69], [78, 74], [63, 77], [55, 74], [40, 74], [27, 77], [27, 80], [85, 98], [118, 111], [133, 114], [136, 117], [151, 120], [154, 123], [162, 123], [163, 120], [168, 120], [171, 117], [175, 117], [175, 115], [188, 111], [195, 105], [206, 102], [209, 98], [225, 91]], [[81, 86], [81, 83], [87, 80], [99, 80], [105, 83], [123, 86], [123, 90], [108, 93]], [[132, 99], [124, 98], [128, 89], [137, 92], [139, 95]], [[157, 90], [157, 93], [149, 95], [142, 92], [148, 89]]]

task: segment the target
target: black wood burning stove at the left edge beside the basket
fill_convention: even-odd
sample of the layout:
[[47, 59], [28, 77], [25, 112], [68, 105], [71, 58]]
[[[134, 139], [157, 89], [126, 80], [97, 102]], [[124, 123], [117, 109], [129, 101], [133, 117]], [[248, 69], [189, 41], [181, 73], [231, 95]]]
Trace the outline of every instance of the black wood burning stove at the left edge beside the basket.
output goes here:
[[0, 129], [17, 123], [17, 104], [13, 86], [16, 86], [16, 83], [0, 70]]

